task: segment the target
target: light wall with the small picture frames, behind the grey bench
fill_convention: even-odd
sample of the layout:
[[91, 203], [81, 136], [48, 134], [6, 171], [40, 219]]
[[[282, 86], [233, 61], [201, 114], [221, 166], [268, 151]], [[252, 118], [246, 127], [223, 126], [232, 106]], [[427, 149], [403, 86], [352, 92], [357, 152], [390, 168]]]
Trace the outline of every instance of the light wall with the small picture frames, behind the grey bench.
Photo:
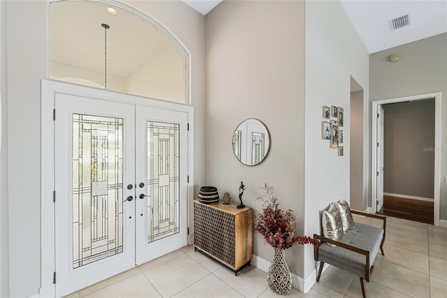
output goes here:
[[[320, 232], [318, 211], [339, 199], [350, 200], [350, 98], [351, 76], [365, 92], [367, 106], [368, 52], [339, 1], [306, 2], [306, 103], [305, 103], [305, 234]], [[344, 108], [344, 156], [321, 139], [322, 106]], [[364, 110], [365, 119], [367, 111]], [[334, 118], [332, 118], [334, 119]], [[369, 139], [364, 125], [365, 140]], [[365, 146], [363, 162], [366, 164]], [[368, 177], [367, 166], [364, 177]], [[365, 185], [364, 187], [367, 187]], [[312, 247], [305, 247], [305, 277], [314, 273]], [[310, 283], [315, 279], [311, 276]]]

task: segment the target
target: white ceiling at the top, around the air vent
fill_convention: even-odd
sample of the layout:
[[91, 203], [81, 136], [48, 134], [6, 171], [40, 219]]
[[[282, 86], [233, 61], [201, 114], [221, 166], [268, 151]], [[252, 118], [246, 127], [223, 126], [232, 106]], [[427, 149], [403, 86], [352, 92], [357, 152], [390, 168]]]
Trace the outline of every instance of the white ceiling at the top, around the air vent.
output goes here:
[[[206, 15], [221, 1], [182, 0]], [[312, 0], [316, 1], [316, 0]], [[447, 32], [447, 0], [342, 0], [369, 53]], [[410, 24], [391, 31], [389, 20], [410, 15]]]

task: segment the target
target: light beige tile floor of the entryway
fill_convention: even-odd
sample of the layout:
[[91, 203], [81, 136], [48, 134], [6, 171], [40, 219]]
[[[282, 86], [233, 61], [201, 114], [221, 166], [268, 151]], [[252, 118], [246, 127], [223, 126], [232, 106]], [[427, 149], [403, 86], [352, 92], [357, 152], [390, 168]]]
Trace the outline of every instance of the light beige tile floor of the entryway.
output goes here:
[[[358, 222], [379, 225], [355, 216]], [[420, 222], [387, 219], [385, 256], [377, 255], [367, 297], [447, 298], [447, 229]], [[358, 276], [328, 267], [306, 294], [294, 288], [288, 297], [362, 297]], [[68, 298], [80, 297], [279, 297], [266, 274], [254, 266], [235, 276], [186, 246], [164, 257], [101, 281]]]

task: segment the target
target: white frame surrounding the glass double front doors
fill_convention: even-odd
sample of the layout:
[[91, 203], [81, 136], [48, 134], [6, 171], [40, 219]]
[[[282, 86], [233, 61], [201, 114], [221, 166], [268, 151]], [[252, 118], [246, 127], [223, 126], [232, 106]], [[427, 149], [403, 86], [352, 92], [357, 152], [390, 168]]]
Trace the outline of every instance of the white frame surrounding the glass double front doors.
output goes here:
[[[152, 108], [161, 108], [170, 111], [179, 111], [188, 114], [188, 124], [191, 129], [188, 133], [188, 226], [192, 227], [193, 204], [193, 107], [184, 104], [176, 104], [169, 101], [160, 101], [136, 97], [130, 94], [121, 94], [109, 90], [101, 90], [92, 87], [61, 83], [56, 80], [42, 80], [41, 84], [41, 288], [40, 297], [54, 297], [56, 287], [53, 283], [54, 276], [54, 94], [73, 94], [82, 97], [94, 97], [108, 101], [125, 104], [138, 104]], [[191, 243], [192, 234], [188, 242]]]

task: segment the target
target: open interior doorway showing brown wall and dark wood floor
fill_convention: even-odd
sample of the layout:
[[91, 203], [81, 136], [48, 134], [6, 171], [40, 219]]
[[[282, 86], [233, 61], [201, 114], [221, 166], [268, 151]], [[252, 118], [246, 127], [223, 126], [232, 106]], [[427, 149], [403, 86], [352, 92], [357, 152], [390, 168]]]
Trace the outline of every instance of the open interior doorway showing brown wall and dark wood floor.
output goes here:
[[[377, 205], [377, 212], [433, 224], [434, 99], [382, 104], [378, 108], [386, 125], [377, 127], [378, 135], [383, 130], [379, 141], [383, 150], [378, 147], [377, 155], [383, 152], [386, 171], [381, 171], [384, 204]], [[377, 189], [379, 197], [379, 185]]]

